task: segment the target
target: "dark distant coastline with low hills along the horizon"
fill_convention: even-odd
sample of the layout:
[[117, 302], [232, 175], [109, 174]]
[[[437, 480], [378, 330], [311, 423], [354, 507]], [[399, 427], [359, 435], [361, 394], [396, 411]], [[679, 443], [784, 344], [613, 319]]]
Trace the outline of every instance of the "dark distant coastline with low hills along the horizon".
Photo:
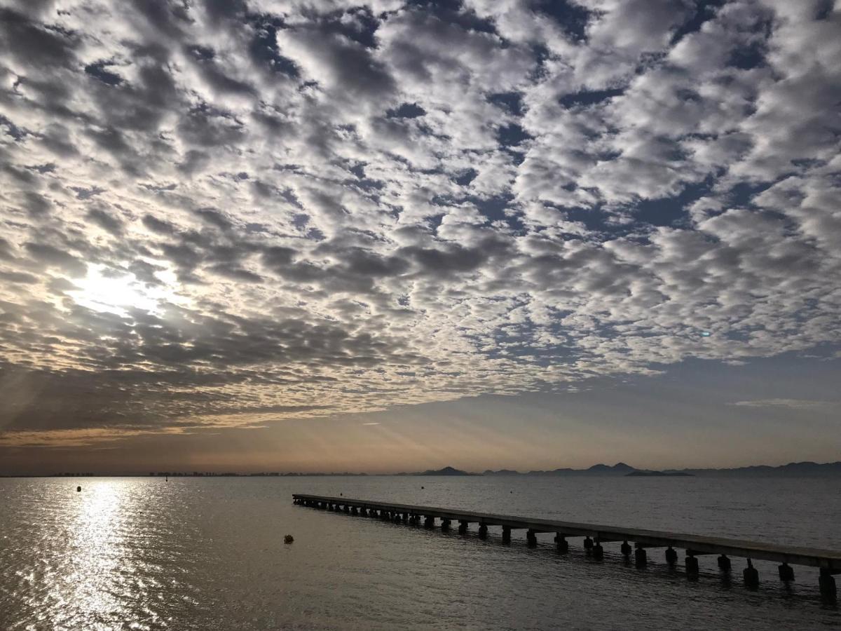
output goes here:
[[616, 463], [614, 465], [608, 464], [594, 464], [587, 469], [550, 469], [550, 470], [532, 470], [527, 472], [516, 471], [513, 469], [486, 469], [481, 473], [473, 473], [456, 469], [454, 467], [444, 467], [443, 469], [428, 469], [426, 471], [417, 471], [413, 473], [395, 473], [395, 474], [368, 474], [368, 473], [299, 473], [287, 472], [281, 473], [278, 471], [260, 472], [260, 473], [215, 473], [203, 471], [151, 471], [145, 474], [115, 474], [115, 473], [93, 473], [93, 472], [61, 472], [44, 475], [15, 475], [3, 474], [0, 478], [57, 478], [57, 477], [171, 477], [171, 478], [195, 478], [195, 477], [321, 477], [329, 475], [349, 476], [349, 477], [363, 477], [366, 475], [394, 475], [394, 476], [622, 476], [622, 477], [767, 477], [767, 476], [788, 476], [788, 477], [828, 477], [841, 476], [841, 462], [831, 463], [815, 463], [815, 462], [796, 462], [789, 464], [781, 464], [780, 466], [770, 466], [765, 464], [751, 465], [747, 467], [735, 467], [730, 469], [637, 469], [630, 464]]

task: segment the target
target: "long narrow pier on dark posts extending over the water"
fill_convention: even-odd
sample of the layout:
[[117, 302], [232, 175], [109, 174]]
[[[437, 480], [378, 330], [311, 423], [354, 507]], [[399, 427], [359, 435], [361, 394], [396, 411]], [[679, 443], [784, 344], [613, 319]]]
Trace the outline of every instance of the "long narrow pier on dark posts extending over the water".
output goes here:
[[[484, 512], [462, 511], [453, 508], [435, 506], [413, 506], [394, 504], [388, 501], [351, 500], [346, 497], [311, 496], [295, 493], [295, 504], [320, 508], [334, 512], [346, 512], [362, 517], [376, 517], [397, 523], [418, 525], [423, 521], [426, 528], [435, 528], [436, 519], [441, 520], [441, 529], [449, 530], [452, 522], [458, 522], [458, 532], [465, 534], [471, 523], [479, 524], [479, 538], [488, 537], [489, 526], [502, 528], [502, 543], [510, 544], [512, 530], [525, 530], [526, 542], [537, 545], [537, 533], [555, 533], [558, 552], [568, 552], [568, 537], [584, 537], [584, 549], [594, 559], [602, 559], [605, 551], [601, 544], [621, 541], [621, 554], [630, 557], [634, 563], [643, 567], [648, 563], [648, 548], [665, 548], [665, 559], [669, 565], [676, 565], [678, 554], [675, 548], [684, 549], [685, 570], [687, 575], [697, 575], [698, 557], [704, 554], [717, 554], [718, 567], [729, 571], [730, 557], [748, 559], [743, 570], [747, 586], [759, 585], [759, 572], [751, 559], [762, 559], [779, 563], [781, 581], [793, 581], [794, 569], [791, 565], [807, 565], [819, 569], [818, 585], [823, 596], [835, 597], [834, 574], [841, 574], [841, 551], [800, 548], [780, 544], [762, 544], [756, 541], [743, 541], [721, 537], [701, 537], [695, 534], [668, 533], [659, 530], [640, 528], [618, 528], [599, 526], [591, 523], [558, 522], [552, 519], [534, 517], [516, 517], [512, 515], [493, 515]], [[633, 542], [633, 549], [631, 544]]]

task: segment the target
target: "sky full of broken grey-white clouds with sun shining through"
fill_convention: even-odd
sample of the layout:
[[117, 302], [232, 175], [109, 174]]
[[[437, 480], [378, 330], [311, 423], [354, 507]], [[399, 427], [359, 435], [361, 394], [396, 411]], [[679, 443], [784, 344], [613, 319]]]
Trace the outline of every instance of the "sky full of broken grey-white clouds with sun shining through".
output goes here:
[[841, 453], [841, 6], [0, 0], [0, 473]]

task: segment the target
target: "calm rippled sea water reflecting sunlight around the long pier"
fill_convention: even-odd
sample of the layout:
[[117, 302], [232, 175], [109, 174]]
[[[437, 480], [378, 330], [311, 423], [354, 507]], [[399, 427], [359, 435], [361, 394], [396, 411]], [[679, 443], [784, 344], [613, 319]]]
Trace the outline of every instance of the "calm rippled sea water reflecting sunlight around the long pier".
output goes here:
[[[82, 485], [82, 492], [76, 486]], [[426, 488], [421, 489], [421, 486]], [[841, 549], [841, 481], [632, 478], [0, 480], [0, 629], [841, 627], [817, 570], [688, 581], [571, 540], [500, 544], [294, 506], [293, 492]], [[294, 544], [284, 545], [283, 535]], [[520, 533], [520, 537], [523, 537]]]

